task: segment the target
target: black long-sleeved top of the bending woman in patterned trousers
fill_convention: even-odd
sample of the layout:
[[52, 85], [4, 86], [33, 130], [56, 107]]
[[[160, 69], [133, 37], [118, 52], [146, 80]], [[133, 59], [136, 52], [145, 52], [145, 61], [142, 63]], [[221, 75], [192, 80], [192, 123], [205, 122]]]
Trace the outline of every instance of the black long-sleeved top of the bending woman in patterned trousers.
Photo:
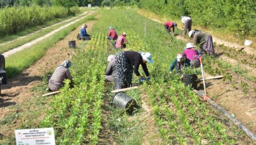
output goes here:
[[136, 76], [141, 76], [141, 74], [139, 74], [139, 65], [140, 64], [141, 64], [146, 76], [150, 75], [148, 73], [147, 64], [142, 63], [141, 53], [136, 52], [136, 51], [125, 51], [125, 57], [129, 60], [129, 63], [134, 66], [134, 73], [136, 74]]

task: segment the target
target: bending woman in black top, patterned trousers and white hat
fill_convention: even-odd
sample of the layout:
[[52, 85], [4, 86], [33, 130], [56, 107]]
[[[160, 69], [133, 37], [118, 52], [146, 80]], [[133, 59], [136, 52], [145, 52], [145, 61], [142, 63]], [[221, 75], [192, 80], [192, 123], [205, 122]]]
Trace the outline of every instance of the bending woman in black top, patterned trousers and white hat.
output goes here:
[[147, 62], [150, 64], [153, 63], [152, 55], [149, 52], [119, 52], [115, 56], [115, 65], [117, 67], [117, 80], [119, 88], [122, 89], [131, 86], [131, 81], [133, 79], [133, 71], [142, 82], [145, 81], [145, 78], [142, 77], [138, 71], [139, 65], [142, 66], [143, 71], [147, 76], [147, 80], [150, 80], [150, 74], [148, 73], [146, 65]]

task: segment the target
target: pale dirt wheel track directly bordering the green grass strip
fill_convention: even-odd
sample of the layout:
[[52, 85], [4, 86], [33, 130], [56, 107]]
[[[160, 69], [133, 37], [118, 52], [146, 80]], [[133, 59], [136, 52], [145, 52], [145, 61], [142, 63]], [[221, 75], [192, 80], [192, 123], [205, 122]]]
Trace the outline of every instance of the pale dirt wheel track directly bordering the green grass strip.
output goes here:
[[7, 52], [5, 52], [5, 53], [2, 53], [2, 55], [5, 56], [5, 57], [8, 57], [8, 56], [13, 55], [14, 53], [16, 53], [16, 52], [18, 52], [18, 51], [22, 51], [23, 49], [29, 48], [29, 47], [31, 47], [32, 45], [34, 45], [34, 44], [36, 44], [36, 43], [42, 41], [43, 39], [46, 39], [46, 38], [48, 38], [49, 36], [54, 35], [56, 32], [59, 32], [59, 31], [63, 30], [65, 27], [71, 26], [73, 23], [76, 23], [76, 22], [78, 22], [79, 20], [84, 19], [86, 16], [88, 16], [88, 15], [85, 15], [85, 16], [82, 16], [82, 17], [79, 18], [79, 19], [73, 20], [73, 22], [68, 23], [68, 24], [65, 24], [64, 26], [61, 26], [60, 28], [57, 28], [56, 30], [54, 30], [54, 31], [52, 31], [52, 32], [49, 32], [48, 34], [46, 34], [46, 35], [44, 35], [44, 36], [42, 36], [42, 37], [40, 37], [40, 38], [37, 38], [37, 39], [35, 39], [35, 40], [32, 40], [32, 41], [29, 42], [29, 43], [23, 44], [23, 45], [21, 45], [20, 47], [16, 47], [16, 48], [14, 48], [14, 49], [11, 49], [10, 51], [7, 51]]

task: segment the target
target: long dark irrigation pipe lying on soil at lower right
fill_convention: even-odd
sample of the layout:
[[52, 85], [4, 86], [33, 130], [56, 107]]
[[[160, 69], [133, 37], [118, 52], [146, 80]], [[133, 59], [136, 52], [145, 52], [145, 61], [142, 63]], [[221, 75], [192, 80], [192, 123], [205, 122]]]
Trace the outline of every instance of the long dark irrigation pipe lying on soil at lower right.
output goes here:
[[[203, 97], [204, 94], [203, 92], [199, 91], [199, 90], [193, 90], [193, 92], [195, 92], [196, 94], [198, 94], [200, 97]], [[212, 101], [210, 98], [207, 100], [207, 102], [210, 103], [210, 105], [212, 105], [214, 108], [218, 109], [219, 111], [221, 111], [226, 117], [228, 117], [235, 125], [237, 125], [241, 130], [243, 130], [243, 132], [246, 133], [246, 135], [248, 135], [254, 142], [256, 142], [256, 136], [253, 132], [251, 132], [249, 129], [247, 129], [245, 127], [245, 125], [243, 125], [240, 121], [238, 121], [236, 118], [232, 117], [232, 115], [230, 115], [225, 109], [222, 109], [222, 107], [218, 106], [217, 103], [215, 103], [214, 101]]]

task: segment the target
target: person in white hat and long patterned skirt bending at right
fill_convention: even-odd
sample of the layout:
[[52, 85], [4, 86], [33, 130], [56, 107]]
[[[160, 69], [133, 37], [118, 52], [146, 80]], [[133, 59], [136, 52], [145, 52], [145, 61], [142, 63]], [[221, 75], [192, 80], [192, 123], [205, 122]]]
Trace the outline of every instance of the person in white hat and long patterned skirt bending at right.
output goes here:
[[214, 55], [212, 35], [200, 31], [196, 33], [195, 32], [196, 31], [193, 30], [189, 31], [189, 38], [193, 38], [195, 45], [200, 44], [201, 52], [205, 51], [208, 55]]

